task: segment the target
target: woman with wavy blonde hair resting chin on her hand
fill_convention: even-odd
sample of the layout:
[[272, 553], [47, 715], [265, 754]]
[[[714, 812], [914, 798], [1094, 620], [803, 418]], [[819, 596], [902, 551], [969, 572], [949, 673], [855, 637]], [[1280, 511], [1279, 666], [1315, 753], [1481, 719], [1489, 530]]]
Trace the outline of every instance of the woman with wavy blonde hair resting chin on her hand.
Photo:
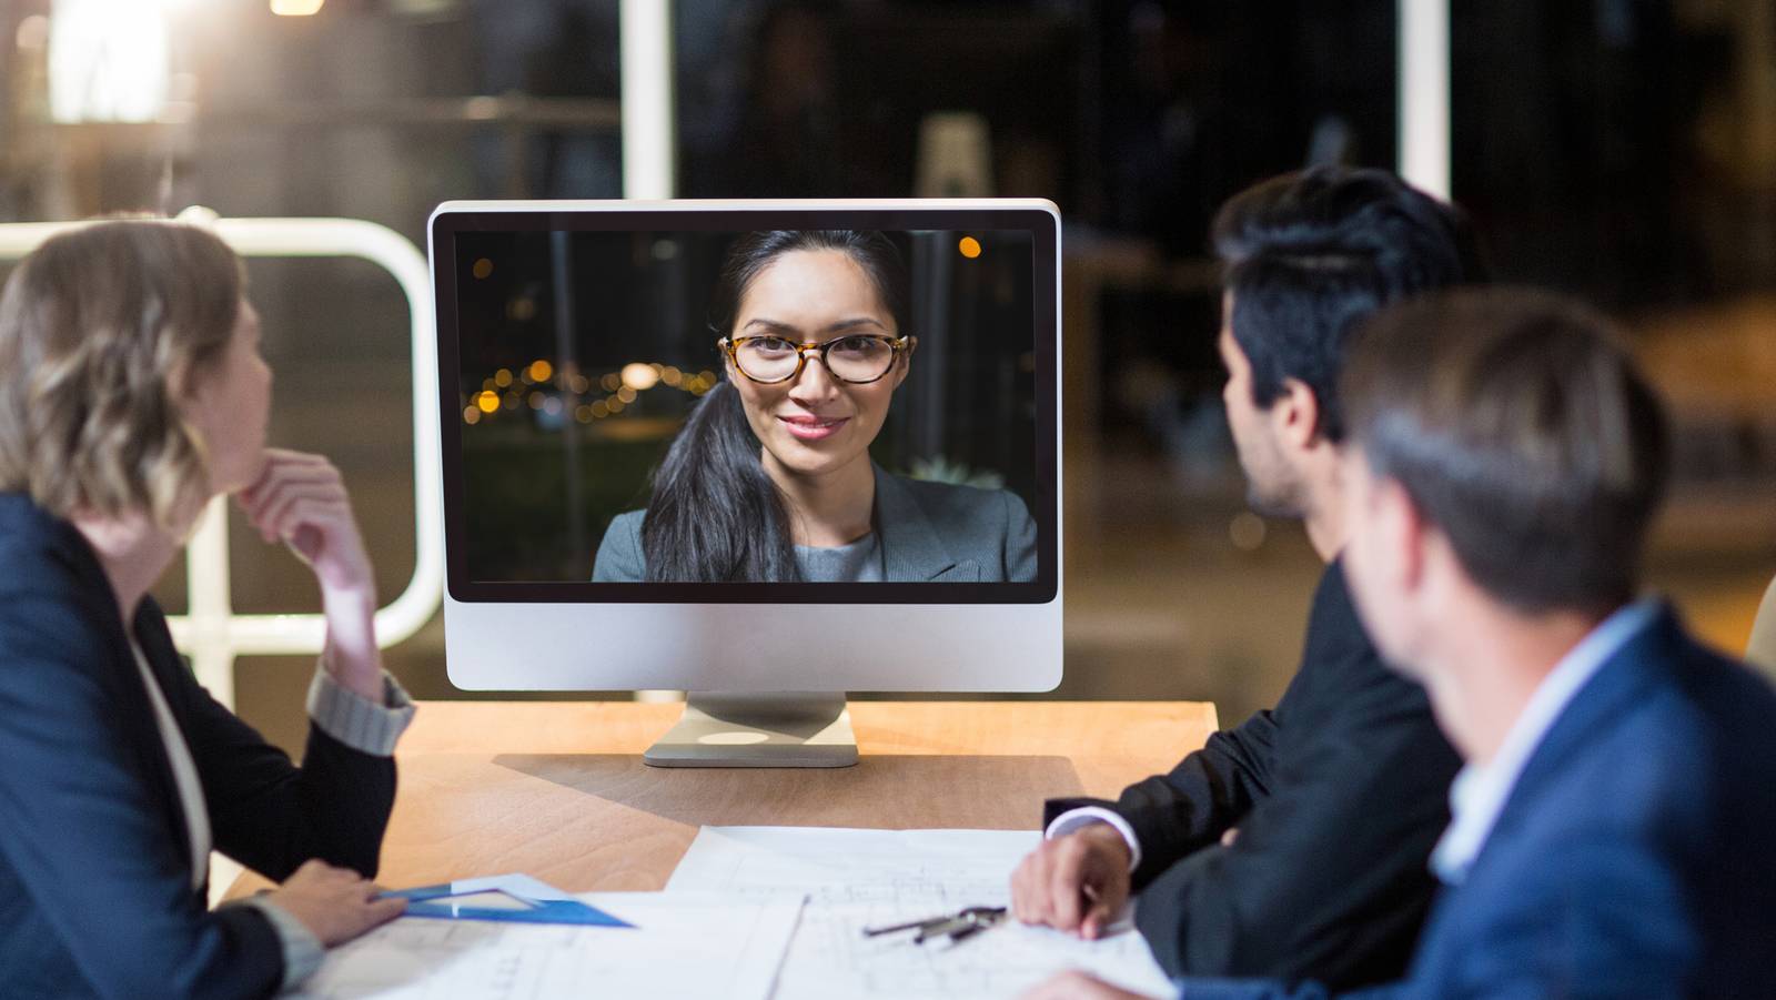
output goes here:
[[[52, 238], [0, 295], [0, 993], [270, 996], [392, 918], [394, 741], [339, 472], [265, 448], [240, 259], [174, 222]], [[302, 767], [197, 686], [149, 586], [211, 497], [320, 583]], [[282, 879], [210, 909], [210, 851]]]

